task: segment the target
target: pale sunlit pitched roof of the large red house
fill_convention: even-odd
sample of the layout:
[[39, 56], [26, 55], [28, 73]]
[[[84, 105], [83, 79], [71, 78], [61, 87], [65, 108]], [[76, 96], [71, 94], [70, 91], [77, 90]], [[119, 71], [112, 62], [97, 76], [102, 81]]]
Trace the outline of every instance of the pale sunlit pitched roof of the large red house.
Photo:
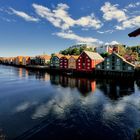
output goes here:
[[90, 52], [90, 51], [84, 51], [89, 57], [90, 59], [96, 59], [96, 60], [104, 60], [104, 58], [96, 52]]

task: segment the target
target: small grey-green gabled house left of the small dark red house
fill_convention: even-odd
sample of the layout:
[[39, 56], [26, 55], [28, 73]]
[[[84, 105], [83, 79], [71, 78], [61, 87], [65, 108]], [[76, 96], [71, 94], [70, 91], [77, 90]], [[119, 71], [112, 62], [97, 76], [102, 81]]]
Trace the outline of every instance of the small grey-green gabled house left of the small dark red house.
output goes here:
[[59, 68], [60, 66], [60, 58], [62, 57], [62, 54], [55, 54], [50, 59], [50, 67], [51, 68]]

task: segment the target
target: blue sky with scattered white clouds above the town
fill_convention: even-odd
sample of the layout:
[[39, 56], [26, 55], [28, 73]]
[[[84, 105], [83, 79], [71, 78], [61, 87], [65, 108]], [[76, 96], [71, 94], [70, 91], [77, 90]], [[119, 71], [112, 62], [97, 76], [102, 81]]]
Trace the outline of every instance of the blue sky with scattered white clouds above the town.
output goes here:
[[140, 45], [139, 0], [0, 0], [0, 56], [57, 53], [77, 43]]

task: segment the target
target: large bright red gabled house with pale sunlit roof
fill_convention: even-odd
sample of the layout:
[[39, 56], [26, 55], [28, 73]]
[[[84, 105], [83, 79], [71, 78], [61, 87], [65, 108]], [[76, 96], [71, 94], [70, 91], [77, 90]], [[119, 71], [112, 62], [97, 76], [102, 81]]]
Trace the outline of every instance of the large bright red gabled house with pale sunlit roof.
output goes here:
[[78, 71], [92, 71], [103, 60], [103, 57], [96, 52], [83, 51], [77, 59], [76, 69]]

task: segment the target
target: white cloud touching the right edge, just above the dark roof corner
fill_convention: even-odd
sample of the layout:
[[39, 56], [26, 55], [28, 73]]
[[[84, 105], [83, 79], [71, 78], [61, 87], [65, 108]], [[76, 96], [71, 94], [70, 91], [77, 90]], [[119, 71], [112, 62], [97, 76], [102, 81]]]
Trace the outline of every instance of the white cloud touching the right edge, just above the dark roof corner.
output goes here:
[[121, 25], [117, 25], [116, 29], [124, 30], [126, 28], [140, 27], [140, 16], [129, 18], [121, 23]]

